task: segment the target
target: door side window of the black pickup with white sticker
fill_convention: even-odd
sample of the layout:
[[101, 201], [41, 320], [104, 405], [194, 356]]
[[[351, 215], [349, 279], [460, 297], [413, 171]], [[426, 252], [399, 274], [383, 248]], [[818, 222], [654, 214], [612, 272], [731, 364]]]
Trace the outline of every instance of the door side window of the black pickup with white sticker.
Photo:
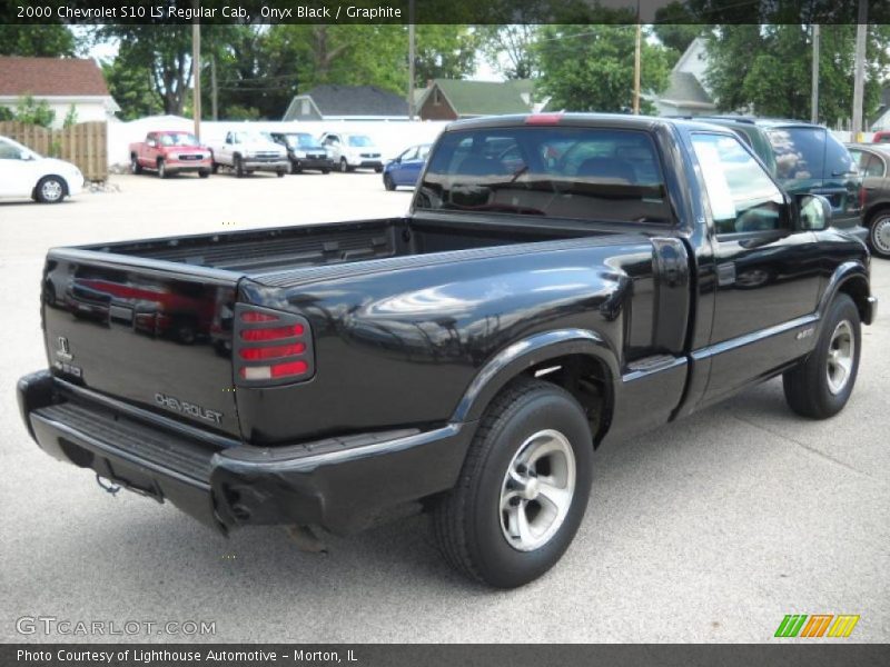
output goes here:
[[787, 227], [784, 197], [739, 139], [694, 135], [718, 233], [773, 231]]

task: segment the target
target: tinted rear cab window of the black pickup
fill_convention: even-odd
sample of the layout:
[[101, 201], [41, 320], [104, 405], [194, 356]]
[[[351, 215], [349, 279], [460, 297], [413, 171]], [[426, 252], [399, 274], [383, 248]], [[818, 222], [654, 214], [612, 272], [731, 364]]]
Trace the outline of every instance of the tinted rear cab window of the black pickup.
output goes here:
[[417, 209], [671, 225], [652, 137], [610, 128], [453, 130], [432, 153]]

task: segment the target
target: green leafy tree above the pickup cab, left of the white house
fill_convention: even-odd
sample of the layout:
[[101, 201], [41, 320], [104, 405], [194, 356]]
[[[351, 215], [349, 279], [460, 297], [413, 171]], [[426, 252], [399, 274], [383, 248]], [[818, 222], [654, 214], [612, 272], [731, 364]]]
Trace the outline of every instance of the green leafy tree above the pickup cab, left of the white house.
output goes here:
[[[645, 36], [647, 37], [647, 34]], [[641, 89], [668, 84], [664, 47], [643, 39]], [[550, 109], [627, 111], [633, 106], [634, 26], [546, 26], [536, 44], [541, 67], [538, 97], [550, 96]], [[652, 110], [641, 100], [644, 112]]]

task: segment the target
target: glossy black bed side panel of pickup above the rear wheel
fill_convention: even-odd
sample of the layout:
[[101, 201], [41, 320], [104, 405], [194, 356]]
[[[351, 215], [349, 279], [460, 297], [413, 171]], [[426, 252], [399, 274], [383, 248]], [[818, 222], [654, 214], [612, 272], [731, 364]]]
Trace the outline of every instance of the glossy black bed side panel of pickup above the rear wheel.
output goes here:
[[305, 282], [294, 272], [240, 283], [239, 301], [309, 320], [317, 369], [303, 384], [237, 389], [249, 441], [443, 424], [507, 346], [585, 329], [620, 362], [625, 340], [642, 344], [653, 330], [652, 246], [639, 236], [369, 261], [339, 277], [323, 273], [304, 273]]

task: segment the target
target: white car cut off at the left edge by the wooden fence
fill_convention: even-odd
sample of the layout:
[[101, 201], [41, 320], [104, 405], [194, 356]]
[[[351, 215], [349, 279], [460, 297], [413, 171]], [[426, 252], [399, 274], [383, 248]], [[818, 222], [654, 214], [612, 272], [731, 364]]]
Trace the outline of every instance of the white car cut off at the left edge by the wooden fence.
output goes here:
[[41, 203], [59, 203], [78, 195], [82, 187], [83, 175], [71, 162], [44, 158], [0, 137], [0, 198], [30, 197]]

